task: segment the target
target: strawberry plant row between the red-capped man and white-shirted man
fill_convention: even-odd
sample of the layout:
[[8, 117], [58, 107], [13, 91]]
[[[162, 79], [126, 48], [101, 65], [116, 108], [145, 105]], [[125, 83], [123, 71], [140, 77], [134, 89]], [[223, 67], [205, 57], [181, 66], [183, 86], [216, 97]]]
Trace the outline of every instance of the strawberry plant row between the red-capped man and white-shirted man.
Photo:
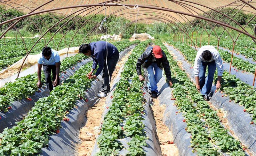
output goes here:
[[[168, 49], [161, 43], [156, 44], [164, 51]], [[210, 108], [202, 95], [196, 90], [185, 71], [181, 70], [169, 53], [167, 58], [172, 69], [173, 91], [172, 99], [177, 106], [176, 113], [182, 112], [185, 117], [180, 122], [186, 122], [186, 131], [191, 133], [192, 152], [203, 155], [221, 155], [225, 152], [229, 155], [245, 155], [240, 142], [228, 134], [228, 130], [222, 127], [217, 112]]]

